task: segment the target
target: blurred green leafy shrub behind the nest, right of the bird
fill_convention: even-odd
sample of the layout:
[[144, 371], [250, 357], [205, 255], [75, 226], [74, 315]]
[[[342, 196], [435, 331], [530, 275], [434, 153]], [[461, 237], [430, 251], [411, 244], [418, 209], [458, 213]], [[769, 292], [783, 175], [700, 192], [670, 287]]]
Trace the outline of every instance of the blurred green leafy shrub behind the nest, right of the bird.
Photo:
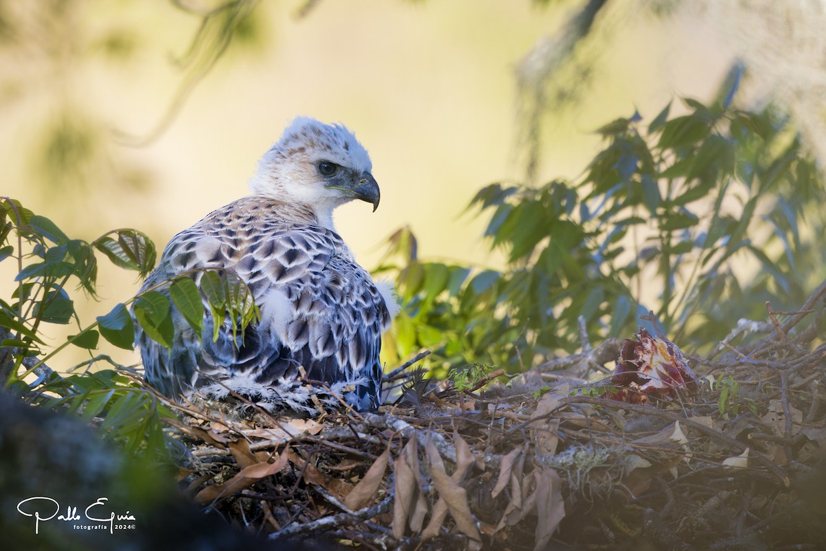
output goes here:
[[[736, 75], [735, 75], [736, 76]], [[418, 258], [399, 230], [379, 273], [403, 309], [394, 361], [422, 347], [441, 368], [525, 370], [591, 340], [629, 335], [653, 311], [686, 350], [709, 349], [765, 303], [793, 310], [824, 277], [823, 180], [785, 116], [732, 106], [737, 78], [709, 105], [669, 104], [601, 127], [604, 147], [576, 181], [495, 183], [472, 198], [501, 270]], [[642, 322], [645, 325], [648, 322]]]

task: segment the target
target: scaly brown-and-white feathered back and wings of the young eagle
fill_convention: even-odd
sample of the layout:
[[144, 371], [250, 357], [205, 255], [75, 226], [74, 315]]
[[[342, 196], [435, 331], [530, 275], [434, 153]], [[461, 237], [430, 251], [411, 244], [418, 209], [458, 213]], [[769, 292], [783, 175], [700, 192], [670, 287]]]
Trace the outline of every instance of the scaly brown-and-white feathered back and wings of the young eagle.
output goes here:
[[348, 400], [358, 409], [377, 406], [378, 354], [390, 323], [384, 298], [339, 235], [289, 221], [282, 216], [289, 208], [247, 197], [212, 212], [164, 249], [144, 288], [197, 268], [225, 268], [248, 283], [262, 321], [242, 340], [230, 321], [212, 320], [207, 309], [199, 340], [183, 316], [173, 316], [169, 353], [136, 325], [146, 378], [161, 392], [188, 395], [214, 379], [228, 384], [234, 378], [287, 392], [299, 384], [303, 365], [311, 379], [354, 387]]

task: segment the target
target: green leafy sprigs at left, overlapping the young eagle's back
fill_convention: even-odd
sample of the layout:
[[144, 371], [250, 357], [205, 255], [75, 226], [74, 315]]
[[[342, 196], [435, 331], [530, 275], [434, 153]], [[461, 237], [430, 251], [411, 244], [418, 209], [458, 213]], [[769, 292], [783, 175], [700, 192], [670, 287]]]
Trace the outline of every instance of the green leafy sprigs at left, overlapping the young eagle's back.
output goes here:
[[[78, 413], [88, 420], [101, 418], [101, 433], [121, 443], [130, 454], [163, 454], [162, 418], [172, 413], [135, 377], [134, 370], [107, 355], [92, 356], [102, 343], [100, 338], [112, 346], [132, 349], [137, 323], [150, 338], [169, 347], [173, 306], [197, 335], [206, 308], [242, 332], [257, 321], [259, 311], [240, 278], [211, 270], [161, 282], [84, 325], [70, 293], [77, 289], [94, 296], [96, 253], [141, 276], [150, 272], [156, 259], [154, 244], [140, 231], [112, 230], [91, 243], [70, 239], [45, 216], [0, 197], [0, 262], [17, 268], [12, 297], [0, 297], [0, 384], [31, 403]], [[196, 275], [200, 275], [200, 290], [192, 280]], [[157, 291], [161, 287], [169, 287], [169, 296]], [[134, 321], [126, 307], [130, 303]], [[74, 324], [78, 330], [61, 344], [48, 344], [43, 324]], [[46, 363], [69, 346], [88, 350], [91, 358], [69, 370], [87, 367], [83, 373], [61, 377]], [[114, 368], [91, 373], [88, 367], [97, 362], [112, 363]], [[37, 376], [34, 381], [32, 374]]]

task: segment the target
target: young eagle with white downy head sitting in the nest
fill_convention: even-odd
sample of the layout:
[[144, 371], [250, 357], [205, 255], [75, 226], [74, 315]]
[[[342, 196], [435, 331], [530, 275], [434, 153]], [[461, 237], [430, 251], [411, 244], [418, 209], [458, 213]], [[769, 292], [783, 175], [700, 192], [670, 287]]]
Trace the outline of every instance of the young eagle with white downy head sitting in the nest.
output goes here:
[[[259, 161], [252, 194], [175, 235], [141, 292], [202, 268], [222, 268], [249, 286], [261, 321], [243, 339], [205, 308], [202, 335], [173, 309], [171, 349], [135, 324], [145, 378], [169, 397], [223, 400], [237, 392], [268, 411], [314, 412], [306, 377], [359, 411], [381, 401], [382, 332], [398, 306], [335, 232], [333, 210], [354, 199], [378, 207], [363, 146], [341, 125], [299, 117]], [[159, 288], [168, 292], [169, 286]], [[213, 339], [214, 324], [219, 324]], [[338, 403], [324, 389], [322, 401]]]

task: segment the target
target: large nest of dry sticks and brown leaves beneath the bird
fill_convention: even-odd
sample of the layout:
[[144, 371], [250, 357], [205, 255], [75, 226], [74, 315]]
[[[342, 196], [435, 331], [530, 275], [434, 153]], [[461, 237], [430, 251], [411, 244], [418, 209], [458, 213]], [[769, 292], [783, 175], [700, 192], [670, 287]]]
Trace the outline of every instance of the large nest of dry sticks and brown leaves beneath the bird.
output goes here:
[[176, 406], [181, 483], [272, 539], [357, 549], [824, 549], [824, 297], [705, 358], [641, 330], [508, 385], [402, 366], [403, 399], [373, 413]]

